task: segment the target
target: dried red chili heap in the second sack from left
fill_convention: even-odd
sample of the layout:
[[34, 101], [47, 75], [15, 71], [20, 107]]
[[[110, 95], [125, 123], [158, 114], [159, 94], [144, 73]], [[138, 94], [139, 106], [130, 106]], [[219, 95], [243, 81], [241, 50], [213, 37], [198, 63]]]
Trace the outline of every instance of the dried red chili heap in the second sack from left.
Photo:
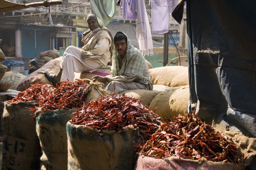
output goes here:
[[84, 103], [87, 103], [87, 94], [85, 94], [86, 87], [89, 84], [80, 79], [74, 82], [61, 81], [60, 86], [56, 86], [51, 91], [49, 96], [38, 101], [41, 110], [57, 110], [57, 109], [72, 109], [80, 108]]

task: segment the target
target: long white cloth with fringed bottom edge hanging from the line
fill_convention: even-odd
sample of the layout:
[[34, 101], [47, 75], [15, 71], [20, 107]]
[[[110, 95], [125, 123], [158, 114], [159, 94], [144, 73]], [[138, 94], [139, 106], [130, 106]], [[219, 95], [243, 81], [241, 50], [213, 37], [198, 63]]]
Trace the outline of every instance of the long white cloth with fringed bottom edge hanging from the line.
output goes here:
[[148, 15], [144, 1], [137, 0], [137, 39], [140, 52], [143, 56], [153, 54], [153, 41], [151, 36]]

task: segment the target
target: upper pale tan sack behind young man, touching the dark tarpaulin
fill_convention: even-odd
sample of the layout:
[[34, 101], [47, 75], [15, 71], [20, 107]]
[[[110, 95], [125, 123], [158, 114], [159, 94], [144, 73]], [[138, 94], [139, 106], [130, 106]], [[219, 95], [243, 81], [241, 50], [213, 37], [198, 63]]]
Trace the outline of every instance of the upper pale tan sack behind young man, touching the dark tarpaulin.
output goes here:
[[188, 85], [188, 67], [166, 66], [149, 70], [153, 84], [162, 84], [170, 87]]

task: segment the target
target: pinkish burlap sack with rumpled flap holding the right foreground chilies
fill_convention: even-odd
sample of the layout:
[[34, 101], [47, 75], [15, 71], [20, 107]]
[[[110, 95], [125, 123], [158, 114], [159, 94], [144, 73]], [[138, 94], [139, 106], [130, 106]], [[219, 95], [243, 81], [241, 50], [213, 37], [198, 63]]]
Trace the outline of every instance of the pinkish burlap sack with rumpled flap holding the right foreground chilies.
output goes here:
[[[221, 130], [221, 129], [217, 129]], [[224, 134], [231, 138], [232, 141], [237, 145], [237, 150], [241, 153], [246, 153], [247, 157], [242, 164], [236, 165], [230, 162], [212, 162], [202, 159], [201, 162], [198, 160], [190, 159], [178, 159], [172, 156], [168, 159], [155, 159], [150, 157], [140, 156], [137, 160], [136, 170], [220, 170], [220, 169], [230, 169], [239, 170], [247, 169], [246, 166], [250, 166], [248, 169], [255, 169], [255, 162], [252, 160], [256, 155], [256, 138], [248, 138], [239, 131], [223, 131]], [[251, 165], [250, 165], [251, 164]]]

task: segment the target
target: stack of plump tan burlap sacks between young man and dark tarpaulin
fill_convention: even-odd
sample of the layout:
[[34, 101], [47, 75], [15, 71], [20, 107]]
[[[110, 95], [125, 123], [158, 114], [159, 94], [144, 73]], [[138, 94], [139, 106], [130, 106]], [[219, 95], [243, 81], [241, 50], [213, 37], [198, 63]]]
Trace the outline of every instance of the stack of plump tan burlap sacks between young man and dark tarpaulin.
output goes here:
[[[188, 111], [189, 86], [188, 67], [166, 66], [149, 69], [153, 90], [127, 90], [127, 96], [142, 100], [156, 114], [165, 118]], [[122, 94], [120, 93], [120, 94]]]

